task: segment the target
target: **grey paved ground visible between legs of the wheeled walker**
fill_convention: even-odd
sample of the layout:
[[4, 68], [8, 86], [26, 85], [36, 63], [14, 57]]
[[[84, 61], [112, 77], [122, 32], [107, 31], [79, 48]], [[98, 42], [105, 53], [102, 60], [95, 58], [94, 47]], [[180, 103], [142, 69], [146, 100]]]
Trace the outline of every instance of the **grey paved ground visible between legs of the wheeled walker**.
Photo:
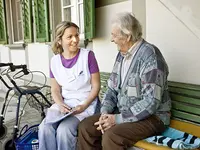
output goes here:
[[[5, 96], [5, 93], [0, 92], [0, 111], [2, 110], [4, 96]], [[25, 98], [22, 99], [22, 102], [21, 102], [22, 107], [24, 106], [25, 102], [26, 102]], [[17, 98], [13, 97], [7, 108], [7, 113], [5, 116], [4, 125], [7, 127], [7, 134], [5, 138], [0, 140], [0, 150], [4, 150], [3, 144], [5, 144], [5, 142], [11, 137], [13, 126], [15, 124], [16, 105], [17, 105]], [[19, 127], [20, 129], [26, 124], [31, 126], [31, 125], [40, 123], [41, 116], [40, 116], [40, 113], [36, 109], [31, 108], [28, 104], [26, 104], [26, 106], [24, 107], [24, 110], [22, 111], [22, 107], [21, 107], [22, 117], [21, 117], [20, 127]]]

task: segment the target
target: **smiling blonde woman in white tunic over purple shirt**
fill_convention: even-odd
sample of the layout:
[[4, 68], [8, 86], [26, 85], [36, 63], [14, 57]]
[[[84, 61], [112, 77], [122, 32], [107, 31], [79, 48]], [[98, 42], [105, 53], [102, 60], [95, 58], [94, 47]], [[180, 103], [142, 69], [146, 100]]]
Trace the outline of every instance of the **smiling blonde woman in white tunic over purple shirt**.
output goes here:
[[[40, 150], [75, 150], [79, 122], [95, 113], [100, 89], [99, 68], [94, 53], [78, 47], [79, 40], [76, 24], [64, 21], [56, 27], [55, 55], [50, 67], [55, 104], [50, 110], [66, 114], [73, 108], [74, 112], [59, 122], [49, 124], [43, 120], [39, 126]], [[48, 115], [46, 118], [56, 114]]]

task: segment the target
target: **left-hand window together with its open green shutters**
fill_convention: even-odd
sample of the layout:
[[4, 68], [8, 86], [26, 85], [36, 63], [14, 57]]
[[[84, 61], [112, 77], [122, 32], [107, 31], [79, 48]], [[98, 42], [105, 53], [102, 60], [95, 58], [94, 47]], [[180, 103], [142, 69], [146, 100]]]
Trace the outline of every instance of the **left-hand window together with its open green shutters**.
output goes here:
[[[8, 35], [9, 44], [49, 42], [48, 1], [0, 0], [0, 7], [2, 7], [0, 11], [0, 27], [4, 28], [5, 35]], [[7, 21], [6, 24], [5, 20]], [[5, 27], [3, 26], [4, 24], [6, 25]], [[3, 33], [0, 33], [0, 37], [1, 35], [3, 37]]]

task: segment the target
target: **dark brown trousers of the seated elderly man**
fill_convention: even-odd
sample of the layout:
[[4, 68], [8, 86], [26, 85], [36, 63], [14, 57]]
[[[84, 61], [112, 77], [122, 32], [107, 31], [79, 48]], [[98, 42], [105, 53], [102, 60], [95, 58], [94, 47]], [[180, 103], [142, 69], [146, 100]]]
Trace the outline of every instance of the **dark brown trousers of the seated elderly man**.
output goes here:
[[88, 117], [79, 124], [78, 150], [125, 150], [137, 141], [165, 130], [163, 122], [152, 115], [138, 122], [117, 124], [102, 135], [94, 125], [99, 117], [99, 114]]

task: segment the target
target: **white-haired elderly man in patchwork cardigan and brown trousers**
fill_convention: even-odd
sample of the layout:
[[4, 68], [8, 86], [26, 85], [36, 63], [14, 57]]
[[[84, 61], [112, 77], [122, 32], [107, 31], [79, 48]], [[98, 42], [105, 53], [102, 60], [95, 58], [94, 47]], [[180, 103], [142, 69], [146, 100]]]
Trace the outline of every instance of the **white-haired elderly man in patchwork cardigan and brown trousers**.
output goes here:
[[101, 114], [79, 124], [80, 150], [123, 150], [169, 125], [168, 67], [159, 49], [141, 36], [141, 25], [130, 13], [113, 20], [111, 41], [119, 53]]

